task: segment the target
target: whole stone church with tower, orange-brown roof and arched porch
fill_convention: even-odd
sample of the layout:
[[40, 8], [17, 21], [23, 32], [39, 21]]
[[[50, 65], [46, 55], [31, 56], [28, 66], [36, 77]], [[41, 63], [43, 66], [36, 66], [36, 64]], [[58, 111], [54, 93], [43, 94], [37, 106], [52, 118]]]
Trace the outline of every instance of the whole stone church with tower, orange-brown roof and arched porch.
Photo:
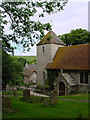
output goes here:
[[66, 46], [49, 31], [37, 44], [37, 84], [45, 86], [47, 70], [58, 70], [54, 89], [59, 95], [87, 92], [90, 83], [90, 44]]

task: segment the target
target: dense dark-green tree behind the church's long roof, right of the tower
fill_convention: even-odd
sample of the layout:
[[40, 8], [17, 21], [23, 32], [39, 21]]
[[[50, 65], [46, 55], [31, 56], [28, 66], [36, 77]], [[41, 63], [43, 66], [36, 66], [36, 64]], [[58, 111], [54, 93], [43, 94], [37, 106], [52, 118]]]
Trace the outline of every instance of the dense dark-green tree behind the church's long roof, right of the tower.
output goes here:
[[60, 39], [66, 43], [66, 45], [78, 45], [89, 43], [90, 32], [86, 29], [71, 30], [70, 33], [59, 35]]

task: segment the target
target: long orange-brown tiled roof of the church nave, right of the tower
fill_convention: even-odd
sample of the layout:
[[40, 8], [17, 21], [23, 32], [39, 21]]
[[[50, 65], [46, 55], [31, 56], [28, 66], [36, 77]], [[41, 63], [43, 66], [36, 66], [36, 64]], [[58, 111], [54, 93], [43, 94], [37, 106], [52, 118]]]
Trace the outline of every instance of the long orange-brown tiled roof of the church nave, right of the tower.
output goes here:
[[46, 69], [90, 70], [90, 44], [60, 47]]

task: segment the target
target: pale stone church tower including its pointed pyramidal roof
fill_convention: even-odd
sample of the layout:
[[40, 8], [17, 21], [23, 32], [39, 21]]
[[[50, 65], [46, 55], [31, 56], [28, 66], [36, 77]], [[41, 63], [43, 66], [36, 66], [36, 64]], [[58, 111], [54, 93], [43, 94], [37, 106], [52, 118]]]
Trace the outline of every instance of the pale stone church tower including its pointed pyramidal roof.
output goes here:
[[45, 85], [47, 79], [45, 67], [53, 61], [58, 48], [65, 47], [65, 45], [53, 31], [49, 31], [37, 44], [37, 85]]

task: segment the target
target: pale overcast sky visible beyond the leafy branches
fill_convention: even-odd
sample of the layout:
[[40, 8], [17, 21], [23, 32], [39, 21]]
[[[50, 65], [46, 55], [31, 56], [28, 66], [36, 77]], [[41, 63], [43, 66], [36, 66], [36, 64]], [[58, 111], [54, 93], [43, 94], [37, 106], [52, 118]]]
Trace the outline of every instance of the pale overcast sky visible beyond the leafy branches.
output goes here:
[[[64, 10], [53, 14], [47, 15], [45, 18], [38, 18], [34, 16], [35, 20], [41, 22], [51, 22], [52, 30], [57, 34], [61, 35], [70, 32], [72, 29], [82, 28], [88, 30], [88, 1], [89, 0], [71, 0], [65, 6]], [[47, 33], [47, 32], [46, 32]], [[18, 47], [15, 50], [15, 55], [36, 55], [36, 45], [31, 48], [30, 52], [23, 53]]]

